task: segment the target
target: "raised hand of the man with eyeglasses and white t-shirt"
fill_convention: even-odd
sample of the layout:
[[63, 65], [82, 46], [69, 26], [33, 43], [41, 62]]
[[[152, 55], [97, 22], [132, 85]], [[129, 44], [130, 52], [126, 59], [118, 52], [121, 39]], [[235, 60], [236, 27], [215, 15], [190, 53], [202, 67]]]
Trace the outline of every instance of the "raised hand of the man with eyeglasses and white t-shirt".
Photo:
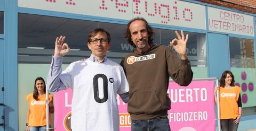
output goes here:
[[68, 54], [70, 48], [67, 43], [63, 43], [65, 39], [65, 36], [60, 36], [60, 38], [56, 38], [54, 56], [62, 57]]

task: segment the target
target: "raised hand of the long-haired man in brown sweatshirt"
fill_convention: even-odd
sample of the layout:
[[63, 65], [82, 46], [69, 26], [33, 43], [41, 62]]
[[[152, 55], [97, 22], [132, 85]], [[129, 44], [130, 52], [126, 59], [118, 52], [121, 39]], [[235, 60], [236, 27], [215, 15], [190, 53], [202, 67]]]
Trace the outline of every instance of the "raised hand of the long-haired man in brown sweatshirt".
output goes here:
[[[176, 36], [178, 37], [173, 39], [170, 42], [170, 46], [180, 55], [180, 58], [185, 60], [188, 58], [186, 51], [187, 51], [187, 41], [188, 41], [188, 34], [186, 35], [186, 39], [184, 37], [184, 33], [183, 31], [181, 32], [181, 37], [180, 34], [178, 33], [177, 30], [175, 30]], [[177, 43], [176, 45], [174, 45], [174, 43]]]

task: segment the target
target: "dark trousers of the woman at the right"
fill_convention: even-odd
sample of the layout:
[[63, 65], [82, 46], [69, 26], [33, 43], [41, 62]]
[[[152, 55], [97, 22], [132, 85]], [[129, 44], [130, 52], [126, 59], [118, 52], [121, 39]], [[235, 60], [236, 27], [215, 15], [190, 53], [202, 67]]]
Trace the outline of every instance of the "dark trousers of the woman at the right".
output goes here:
[[221, 119], [221, 130], [222, 131], [236, 131], [238, 128], [238, 124], [234, 123], [234, 120], [236, 119]]

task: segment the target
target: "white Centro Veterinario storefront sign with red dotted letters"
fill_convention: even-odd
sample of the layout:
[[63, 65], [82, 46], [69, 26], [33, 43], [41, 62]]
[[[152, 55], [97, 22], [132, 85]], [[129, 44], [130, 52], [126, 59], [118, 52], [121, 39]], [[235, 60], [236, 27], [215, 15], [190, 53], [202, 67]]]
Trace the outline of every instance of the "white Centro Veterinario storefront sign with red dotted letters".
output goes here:
[[253, 16], [208, 7], [210, 31], [254, 37]]

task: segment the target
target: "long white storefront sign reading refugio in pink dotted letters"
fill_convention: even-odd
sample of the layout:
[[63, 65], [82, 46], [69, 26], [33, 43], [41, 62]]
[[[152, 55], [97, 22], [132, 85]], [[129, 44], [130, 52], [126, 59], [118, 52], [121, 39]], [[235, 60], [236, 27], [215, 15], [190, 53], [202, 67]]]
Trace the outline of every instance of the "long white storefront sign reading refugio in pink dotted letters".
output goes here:
[[177, 0], [19, 0], [19, 7], [206, 29], [205, 6]]

